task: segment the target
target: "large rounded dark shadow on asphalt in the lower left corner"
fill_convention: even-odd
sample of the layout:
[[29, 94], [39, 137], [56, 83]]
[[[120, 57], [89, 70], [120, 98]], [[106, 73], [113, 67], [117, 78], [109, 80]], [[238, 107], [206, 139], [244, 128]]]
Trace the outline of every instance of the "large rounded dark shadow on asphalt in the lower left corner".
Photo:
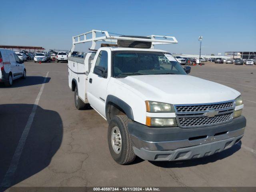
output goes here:
[[[60, 115], [37, 106], [30, 127], [33, 107], [33, 104], [0, 105], [0, 192], [46, 168], [60, 148], [63, 136]], [[24, 130], [29, 130], [28, 134]], [[22, 142], [24, 147], [20, 148]]]

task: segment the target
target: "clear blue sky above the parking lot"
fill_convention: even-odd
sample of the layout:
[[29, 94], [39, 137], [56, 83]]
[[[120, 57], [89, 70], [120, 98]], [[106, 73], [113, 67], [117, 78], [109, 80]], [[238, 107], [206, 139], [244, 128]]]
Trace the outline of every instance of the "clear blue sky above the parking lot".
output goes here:
[[0, 18], [0, 45], [70, 50], [72, 36], [96, 29], [175, 36], [155, 48], [178, 54], [199, 54], [199, 36], [202, 55], [256, 51], [256, 0], [4, 0]]

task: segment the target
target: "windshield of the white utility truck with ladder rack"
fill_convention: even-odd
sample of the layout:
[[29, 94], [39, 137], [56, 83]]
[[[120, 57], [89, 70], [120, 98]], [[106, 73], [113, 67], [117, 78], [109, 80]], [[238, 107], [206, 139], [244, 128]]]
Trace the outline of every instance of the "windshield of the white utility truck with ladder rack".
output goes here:
[[113, 55], [113, 76], [182, 74], [186, 72], [169, 53], [116, 51]]

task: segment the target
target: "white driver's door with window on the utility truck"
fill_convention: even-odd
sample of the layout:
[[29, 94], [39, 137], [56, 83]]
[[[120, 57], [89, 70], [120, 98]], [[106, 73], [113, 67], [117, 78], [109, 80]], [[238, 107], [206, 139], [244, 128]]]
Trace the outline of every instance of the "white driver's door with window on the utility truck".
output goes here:
[[[92, 71], [88, 75], [88, 92], [87, 97], [90, 105], [99, 112], [102, 116], [106, 117], [105, 101], [106, 89], [110, 80], [110, 51], [101, 50], [96, 56], [95, 65], [92, 66]], [[104, 67], [108, 73], [106, 77], [99, 76], [94, 73], [94, 66]]]

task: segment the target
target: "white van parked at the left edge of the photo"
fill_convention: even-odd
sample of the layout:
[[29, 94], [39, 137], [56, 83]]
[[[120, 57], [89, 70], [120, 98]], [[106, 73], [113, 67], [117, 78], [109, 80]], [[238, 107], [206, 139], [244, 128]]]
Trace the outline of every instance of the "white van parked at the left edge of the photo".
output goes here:
[[26, 68], [17, 54], [8, 49], [0, 49], [0, 82], [12, 86], [12, 80], [26, 78]]

